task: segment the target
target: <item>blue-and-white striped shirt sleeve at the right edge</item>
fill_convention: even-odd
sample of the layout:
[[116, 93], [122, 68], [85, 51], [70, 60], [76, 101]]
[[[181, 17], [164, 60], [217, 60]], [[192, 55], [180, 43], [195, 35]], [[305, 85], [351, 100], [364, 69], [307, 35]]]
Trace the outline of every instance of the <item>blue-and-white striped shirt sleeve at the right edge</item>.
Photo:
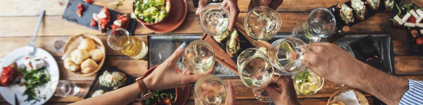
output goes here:
[[398, 105], [423, 105], [423, 81], [408, 80], [409, 89]]

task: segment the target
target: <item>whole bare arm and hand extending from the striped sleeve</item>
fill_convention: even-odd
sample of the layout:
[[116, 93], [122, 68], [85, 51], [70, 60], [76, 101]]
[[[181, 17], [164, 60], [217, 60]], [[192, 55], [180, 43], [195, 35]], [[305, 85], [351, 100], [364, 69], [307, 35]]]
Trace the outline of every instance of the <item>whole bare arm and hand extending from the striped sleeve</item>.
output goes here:
[[361, 89], [388, 105], [398, 105], [408, 90], [408, 80], [379, 71], [331, 43], [311, 43], [308, 68], [338, 84]]

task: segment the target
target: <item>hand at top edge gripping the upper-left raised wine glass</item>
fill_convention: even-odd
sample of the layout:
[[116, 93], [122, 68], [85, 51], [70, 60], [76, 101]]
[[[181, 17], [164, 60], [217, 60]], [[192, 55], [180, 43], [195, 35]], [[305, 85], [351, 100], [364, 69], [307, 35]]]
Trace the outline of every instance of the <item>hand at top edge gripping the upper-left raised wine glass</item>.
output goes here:
[[[207, 5], [207, 1], [209, 0], [200, 0], [198, 1], [198, 8], [197, 11], [195, 11], [195, 14], [200, 15], [201, 10], [204, 6]], [[228, 9], [229, 11], [229, 30], [233, 30], [233, 26], [236, 23], [236, 19], [238, 19], [239, 15], [239, 8], [238, 8], [238, 0], [223, 0], [222, 6]]]

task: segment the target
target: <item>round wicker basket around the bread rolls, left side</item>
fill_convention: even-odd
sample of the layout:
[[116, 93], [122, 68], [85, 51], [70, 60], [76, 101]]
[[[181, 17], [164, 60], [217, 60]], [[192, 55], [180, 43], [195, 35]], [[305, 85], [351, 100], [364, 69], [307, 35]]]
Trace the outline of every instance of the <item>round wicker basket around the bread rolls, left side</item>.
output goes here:
[[69, 53], [72, 50], [77, 49], [77, 46], [71, 46], [71, 45], [74, 45], [74, 44], [72, 44], [73, 42], [77, 42], [77, 40], [80, 40], [80, 37], [82, 37], [84, 39], [85, 38], [93, 39], [94, 42], [96, 42], [96, 48], [98, 48], [98, 49], [100, 49], [100, 50], [103, 51], [103, 58], [102, 58], [102, 60], [100, 60], [99, 62], [97, 62], [99, 64], [99, 67], [95, 71], [92, 71], [91, 73], [88, 73], [88, 74], [82, 74], [81, 71], [77, 71], [77, 72], [71, 71], [72, 73], [76, 74], [77, 76], [90, 76], [90, 75], [93, 75], [93, 74], [97, 73], [97, 71], [99, 71], [102, 68], [102, 66], [104, 64], [104, 60], [106, 58], [106, 50], [105, 50], [104, 44], [103, 44], [102, 40], [99, 39], [99, 37], [97, 37], [96, 35], [88, 34], [88, 33], [79, 33], [79, 34], [75, 34], [74, 36], [72, 36], [68, 40], [68, 42], [66, 42], [65, 48], [63, 50], [63, 57], [62, 57], [62, 59], [65, 60], [66, 58], [69, 58], [70, 57], [69, 56]]

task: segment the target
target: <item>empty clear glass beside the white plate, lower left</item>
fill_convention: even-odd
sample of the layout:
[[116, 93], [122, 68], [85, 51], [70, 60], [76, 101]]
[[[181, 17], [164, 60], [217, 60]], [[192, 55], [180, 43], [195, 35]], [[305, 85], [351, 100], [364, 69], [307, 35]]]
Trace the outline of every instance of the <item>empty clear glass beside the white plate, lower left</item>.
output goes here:
[[49, 84], [49, 89], [57, 97], [75, 96], [80, 92], [80, 87], [77, 84], [67, 80], [52, 81]]

